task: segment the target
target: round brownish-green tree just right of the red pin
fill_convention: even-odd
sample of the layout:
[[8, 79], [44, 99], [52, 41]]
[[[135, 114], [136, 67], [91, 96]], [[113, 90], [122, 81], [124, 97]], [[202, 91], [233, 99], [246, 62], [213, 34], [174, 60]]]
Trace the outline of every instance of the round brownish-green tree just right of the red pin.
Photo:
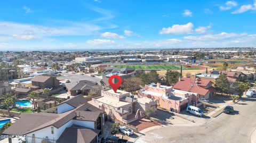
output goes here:
[[140, 89], [141, 83], [142, 82], [140, 78], [132, 77], [129, 79], [125, 79], [121, 85], [121, 88], [127, 92], [135, 94], [135, 92]]

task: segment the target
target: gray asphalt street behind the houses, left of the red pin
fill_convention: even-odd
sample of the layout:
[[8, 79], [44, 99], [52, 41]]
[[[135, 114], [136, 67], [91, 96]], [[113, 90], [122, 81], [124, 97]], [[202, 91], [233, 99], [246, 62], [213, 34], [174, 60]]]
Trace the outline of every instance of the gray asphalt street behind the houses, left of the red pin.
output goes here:
[[[94, 82], [98, 82], [100, 83], [100, 78], [97, 78], [97, 77], [91, 77], [89, 75], [79, 75], [79, 74], [72, 74], [72, 73], [61, 73], [62, 76], [60, 77], [57, 77], [57, 79], [59, 80], [66, 80], [66, 79], [69, 79], [70, 80], [70, 83], [76, 83], [80, 80], [89, 80], [89, 81], [94, 81]], [[70, 83], [67, 83], [67, 84], [70, 84]]]

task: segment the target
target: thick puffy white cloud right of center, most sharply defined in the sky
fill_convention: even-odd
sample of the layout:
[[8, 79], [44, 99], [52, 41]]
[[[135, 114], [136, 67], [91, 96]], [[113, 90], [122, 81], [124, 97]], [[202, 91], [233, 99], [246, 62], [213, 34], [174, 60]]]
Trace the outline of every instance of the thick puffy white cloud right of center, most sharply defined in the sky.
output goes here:
[[171, 34], [171, 35], [179, 35], [179, 34], [187, 34], [193, 32], [193, 23], [189, 22], [187, 24], [179, 25], [174, 24], [172, 27], [162, 28], [160, 34]]

